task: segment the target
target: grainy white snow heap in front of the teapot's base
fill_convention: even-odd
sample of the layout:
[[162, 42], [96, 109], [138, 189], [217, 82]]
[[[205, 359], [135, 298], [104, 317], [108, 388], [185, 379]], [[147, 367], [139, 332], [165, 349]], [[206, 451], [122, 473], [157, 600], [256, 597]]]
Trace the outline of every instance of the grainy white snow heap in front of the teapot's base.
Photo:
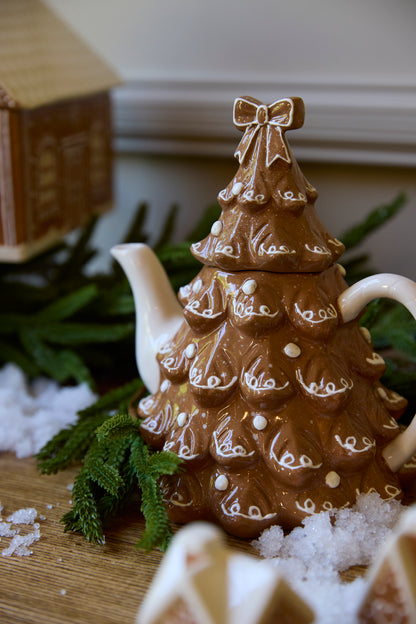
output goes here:
[[343, 582], [339, 572], [371, 564], [403, 509], [398, 501], [361, 494], [353, 507], [312, 515], [287, 536], [273, 526], [253, 546], [314, 609], [316, 624], [355, 624], [367, 581]]

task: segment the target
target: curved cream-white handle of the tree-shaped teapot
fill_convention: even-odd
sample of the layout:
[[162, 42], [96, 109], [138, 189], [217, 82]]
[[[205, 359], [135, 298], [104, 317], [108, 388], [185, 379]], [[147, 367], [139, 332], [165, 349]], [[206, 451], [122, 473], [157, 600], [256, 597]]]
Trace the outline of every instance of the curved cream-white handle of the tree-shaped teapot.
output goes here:
[[[367, 303], [378, 297], [402, 303], [416, 319], [416, 283], [407, 277], [379, 273], [353, 284], [338, 297], [344, 323], [356, 318]], [[396, 472], [416, 451], [416, 414], [410, 425], [382, 451], [390, 470]]]

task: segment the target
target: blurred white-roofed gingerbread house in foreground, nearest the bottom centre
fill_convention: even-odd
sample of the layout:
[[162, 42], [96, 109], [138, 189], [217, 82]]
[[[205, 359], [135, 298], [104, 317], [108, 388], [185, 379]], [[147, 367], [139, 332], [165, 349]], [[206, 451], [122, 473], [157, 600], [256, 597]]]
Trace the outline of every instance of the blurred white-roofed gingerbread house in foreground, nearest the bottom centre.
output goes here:
[[[244, 578], [244, 592], [236, 589]], [[227, 547], [220, 529], [191, 523], [173, 538], [136, 624], [310, 624], [314, 613], [264, 561]]]

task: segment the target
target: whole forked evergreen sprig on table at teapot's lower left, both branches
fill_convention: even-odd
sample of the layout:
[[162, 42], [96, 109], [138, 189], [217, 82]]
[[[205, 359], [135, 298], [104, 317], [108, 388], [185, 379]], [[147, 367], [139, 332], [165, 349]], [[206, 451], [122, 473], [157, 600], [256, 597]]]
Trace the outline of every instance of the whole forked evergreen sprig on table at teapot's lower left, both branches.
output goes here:
[[81, 532], [87, 540], [103, 543], [105, 522], [138, 490], [146, 524], [137, 546], [164, 550], [171, 531], [158, 479], [176, 472], [181, 460], [174, 453], [154, 452], [143, 442], [138, 422], [126, 409], [140, 390], [144, 392], [140, 380], [131, 382], [82, 410], [75, 425], [60, 431], [40, 451], [38, 467], [51, 474], [82, 460], [72, 509], [61, 520], [65, 531]]

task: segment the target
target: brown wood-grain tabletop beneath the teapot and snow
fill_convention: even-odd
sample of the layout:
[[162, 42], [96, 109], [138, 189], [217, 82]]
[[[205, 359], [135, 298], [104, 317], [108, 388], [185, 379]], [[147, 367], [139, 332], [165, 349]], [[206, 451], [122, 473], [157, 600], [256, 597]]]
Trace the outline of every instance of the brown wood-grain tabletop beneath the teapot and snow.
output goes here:
[[[137, 504], [106, 531], [104, 545], [64, 533], [59, 520], [70, 509], [68, 486], [76, 472], [42, 476], [33, 458], [0, 453], [3, 520], [18, 509], [34, 507], [41, 533], [30, 556], [0, 557], [1, 624], [134, 624], [163, 554], [135, 549], [143, 531]], [[0, 552], [9, 543], [10, 538], [2, 537]], [[228, 538], [228, 543], [255, 555], [248, 542]], [[353, 570], [343, 577], [356, 574]]]

